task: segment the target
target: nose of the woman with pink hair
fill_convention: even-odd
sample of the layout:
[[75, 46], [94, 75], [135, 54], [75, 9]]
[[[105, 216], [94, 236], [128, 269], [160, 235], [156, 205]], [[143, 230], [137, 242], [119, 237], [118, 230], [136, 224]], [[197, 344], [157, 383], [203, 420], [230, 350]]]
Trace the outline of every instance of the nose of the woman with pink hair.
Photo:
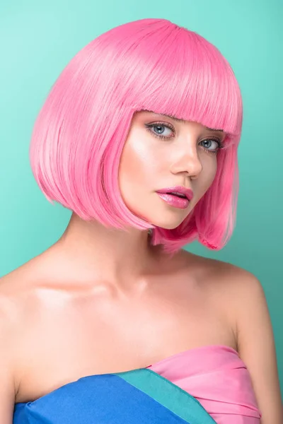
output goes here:
[[196, 179], [200, 175], [202, 163], [196, 146], [189, 146], [185, 151], [178, 154], [178, 158], [175, 158], [171, 163], [171, 172], [173, 174], [187, 172], [190, 179]]

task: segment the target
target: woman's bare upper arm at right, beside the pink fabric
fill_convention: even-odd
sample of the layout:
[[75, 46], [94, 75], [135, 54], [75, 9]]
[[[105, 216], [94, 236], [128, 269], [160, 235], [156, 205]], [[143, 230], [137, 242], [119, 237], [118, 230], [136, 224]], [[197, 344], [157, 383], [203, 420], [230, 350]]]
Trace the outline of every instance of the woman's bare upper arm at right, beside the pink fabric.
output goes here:
[[262, 285], [253, 274], [238, 270], [234, 285], [238, 352], [253, 382], [261, 424], [282, 424], [275, 341]]

